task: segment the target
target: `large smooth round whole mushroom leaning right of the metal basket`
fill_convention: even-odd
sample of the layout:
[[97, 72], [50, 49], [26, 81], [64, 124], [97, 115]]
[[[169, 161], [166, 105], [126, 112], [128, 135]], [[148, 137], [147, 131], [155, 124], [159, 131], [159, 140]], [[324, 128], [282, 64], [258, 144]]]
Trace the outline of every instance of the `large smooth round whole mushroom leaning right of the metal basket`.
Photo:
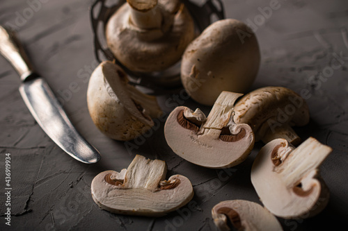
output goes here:
[[224, 19], [187, 46], [181, 80], [192, 99], [213, 105], [222, 91], [246, 92], [260, 66], [258, 40], [250, 31], [243, 22]]

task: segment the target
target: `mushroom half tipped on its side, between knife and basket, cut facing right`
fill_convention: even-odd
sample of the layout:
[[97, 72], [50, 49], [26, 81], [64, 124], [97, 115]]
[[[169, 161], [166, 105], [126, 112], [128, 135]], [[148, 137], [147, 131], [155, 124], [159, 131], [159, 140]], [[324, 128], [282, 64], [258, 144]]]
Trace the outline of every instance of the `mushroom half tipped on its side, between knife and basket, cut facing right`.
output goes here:
[[111, 139], [130, 140], [154, 126], [162, 112], [154, 96], [127, 84], [127, 76], [113, 62], [102, 62], [88, 83], [87, 103], [95, 126]]

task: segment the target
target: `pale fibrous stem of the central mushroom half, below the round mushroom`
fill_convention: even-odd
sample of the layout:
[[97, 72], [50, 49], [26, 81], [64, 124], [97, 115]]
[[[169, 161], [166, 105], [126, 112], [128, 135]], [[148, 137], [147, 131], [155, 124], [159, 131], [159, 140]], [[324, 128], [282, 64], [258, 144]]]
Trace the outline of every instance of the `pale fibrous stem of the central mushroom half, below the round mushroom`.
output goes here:
[[209, 132], [211, 129], [221, 130], [226, 127], [233, 117], [235, 101], [242, 95], [233, 92], [221, 92], [200, 131]]

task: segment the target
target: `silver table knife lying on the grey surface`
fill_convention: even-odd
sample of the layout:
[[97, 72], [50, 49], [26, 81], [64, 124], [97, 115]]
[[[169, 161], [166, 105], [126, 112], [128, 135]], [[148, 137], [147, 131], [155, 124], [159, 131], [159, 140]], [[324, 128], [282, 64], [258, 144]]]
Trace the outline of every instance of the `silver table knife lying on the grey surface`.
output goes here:
[[100, 153], [79, 135], [46, 81], [33, 71], [15, 33], [0, 26], [0, 53], [18, 72], [19, 92], [42, 130], [59, 146], [86, 164], [100, 160]]

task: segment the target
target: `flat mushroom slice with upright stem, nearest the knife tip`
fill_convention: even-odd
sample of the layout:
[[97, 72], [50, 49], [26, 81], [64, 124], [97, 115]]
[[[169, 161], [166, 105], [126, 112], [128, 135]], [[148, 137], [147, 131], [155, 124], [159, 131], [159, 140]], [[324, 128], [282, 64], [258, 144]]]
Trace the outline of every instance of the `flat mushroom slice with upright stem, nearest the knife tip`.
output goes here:
[[164, 216], [193, 197], [189, 179], [174, 175], [165, 180], [166, 171], [166, 162], [136, 155], [127, 170], [104, 171], [93, 179], [93, 200], [116, 214]]

